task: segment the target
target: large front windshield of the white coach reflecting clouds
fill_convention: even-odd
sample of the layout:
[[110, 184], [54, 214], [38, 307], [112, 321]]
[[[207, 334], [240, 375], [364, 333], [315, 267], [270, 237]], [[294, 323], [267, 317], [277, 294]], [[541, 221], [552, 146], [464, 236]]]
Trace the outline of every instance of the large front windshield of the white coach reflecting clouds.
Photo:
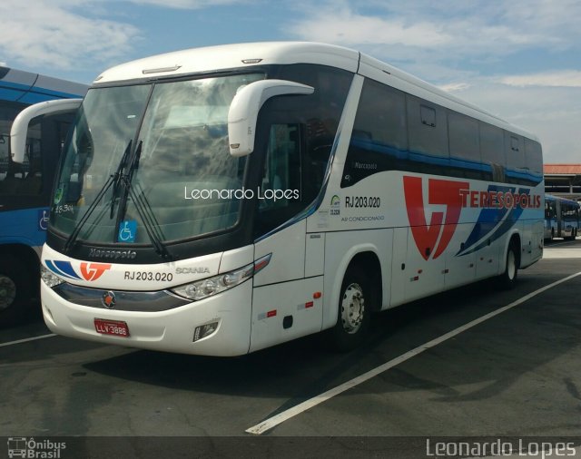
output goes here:
[[228, 110], [242, 86], [263, 78], [90, 90], [65, 146], [53, 228], [92, 243], [148, 243], [152, 228], [172, 241], [234, 226], [246, 158], [230, 155]]

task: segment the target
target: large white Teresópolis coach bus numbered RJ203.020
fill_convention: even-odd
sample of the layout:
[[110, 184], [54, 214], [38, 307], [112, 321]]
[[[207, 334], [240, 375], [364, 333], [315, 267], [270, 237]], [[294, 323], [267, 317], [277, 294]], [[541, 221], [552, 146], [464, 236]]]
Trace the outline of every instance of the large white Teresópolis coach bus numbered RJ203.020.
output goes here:
[[77, 112], [43, 251], [55, 333], [236, 356], [542, 257], [536, 137], [327, 44], [126, 63]]

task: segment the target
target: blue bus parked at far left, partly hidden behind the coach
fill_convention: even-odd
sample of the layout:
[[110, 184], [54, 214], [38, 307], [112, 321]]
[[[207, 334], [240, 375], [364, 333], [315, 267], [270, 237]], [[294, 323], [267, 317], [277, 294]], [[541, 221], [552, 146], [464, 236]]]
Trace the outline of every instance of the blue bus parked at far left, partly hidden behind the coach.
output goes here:
[[40, 116], [25, 135], [24, 162], [12, 161], [10, 130], [25, 107], [82, 97], [87, 86], [0, 67], [0, 323], [22, 316], [38, 298], [54, 172], [70, 115]]

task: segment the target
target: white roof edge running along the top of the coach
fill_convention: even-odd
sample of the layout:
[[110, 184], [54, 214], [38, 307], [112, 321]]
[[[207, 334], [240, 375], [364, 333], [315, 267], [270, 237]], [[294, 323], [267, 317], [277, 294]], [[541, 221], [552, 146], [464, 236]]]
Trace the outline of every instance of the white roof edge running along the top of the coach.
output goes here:
[[406, 73], [397, 67], [389, 65], [389, 63], [379, 61], [379, 59], [368, 54], [362, 54], [353, 49], [335, 44], [278, 41], [219, 44], [190, 48], [171, 53], [156, 54], [116, 65], [101, 73], [94, 80], [94, 84], [122, 83], [131, 80], [142, 80], [143, 78], [169, 77], [192, 73], [211, 73], [241, 67], [251, 69], [253, 66], [274, 63], [319, 63], [342, 68], [352, 73], [357, 73], [358, 71], [361, 73], [361, 67], [367, 65], [377, 69], [384, 76], [388, 75], [390, 79], [381, 79], [389, 84], [394, 83], [394, 87], [398, 87], [394, 82], [394, 79], [396, 79], [403, 85], [414, 88], [414, 91], [410, 92], [413, 95], [421, 97], [423, 94], [432, 103], [441, 104], [468, 116], [476, 116], [484, 122], [539, 142], [537, 136], [533, 133], [517, 127], [476, 105], [463, 101], [417, 76]]

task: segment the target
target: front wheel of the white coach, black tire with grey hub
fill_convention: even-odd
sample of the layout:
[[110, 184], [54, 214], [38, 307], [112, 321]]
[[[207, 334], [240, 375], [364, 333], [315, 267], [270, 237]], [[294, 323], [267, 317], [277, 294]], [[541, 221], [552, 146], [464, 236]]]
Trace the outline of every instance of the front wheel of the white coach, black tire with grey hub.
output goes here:
[[337, 324], [329, 330], [334, 350], [350, 351], [365, 340], [373, 301], [369, 278], [362, 269], [351, 265], [341, 284]]

